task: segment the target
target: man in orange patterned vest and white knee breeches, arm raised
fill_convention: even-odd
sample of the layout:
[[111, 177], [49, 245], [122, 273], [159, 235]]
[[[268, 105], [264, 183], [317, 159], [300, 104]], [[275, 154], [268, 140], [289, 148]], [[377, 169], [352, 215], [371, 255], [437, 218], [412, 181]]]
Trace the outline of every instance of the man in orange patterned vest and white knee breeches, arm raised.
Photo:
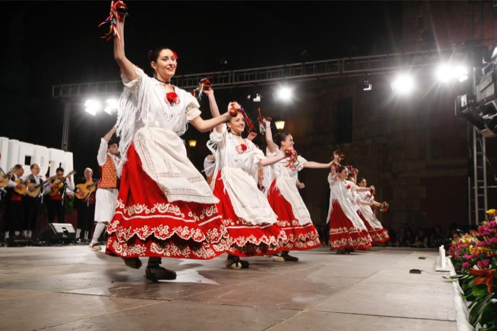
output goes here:
[[95, 231], [89, 244], [89, 248], [94, 250], [102, 249], [98, 245], [98, 238], [112, 220], [117, 204], [119, 149], [117, 141], [110, 139], [114, 132], [116, 132], [115, 126], [100, 139], [100, 147], [96, 156], [100, 166], [100, 180], [95, 194]]

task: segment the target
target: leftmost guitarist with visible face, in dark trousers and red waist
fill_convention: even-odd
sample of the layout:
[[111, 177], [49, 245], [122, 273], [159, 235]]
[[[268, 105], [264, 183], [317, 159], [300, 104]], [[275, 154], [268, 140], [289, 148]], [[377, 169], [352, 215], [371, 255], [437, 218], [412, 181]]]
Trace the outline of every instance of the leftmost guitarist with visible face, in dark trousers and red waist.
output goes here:
[[[24, 208], [22, 206], [22, 195], [14, 191], [14, 188], [22, 189], [25, 184], [22, 182], [24, 168], [22, 165], [15, 165], [11, 177], [7, 184], [7, 230], [5, 231], [5, 242], [10, 238], [10, 233], [13, 232], [15, 237], [22, 234], [26, 235], [26, 227], [24, 225]], [[15, 182], [20, 180], [21, 182]]]

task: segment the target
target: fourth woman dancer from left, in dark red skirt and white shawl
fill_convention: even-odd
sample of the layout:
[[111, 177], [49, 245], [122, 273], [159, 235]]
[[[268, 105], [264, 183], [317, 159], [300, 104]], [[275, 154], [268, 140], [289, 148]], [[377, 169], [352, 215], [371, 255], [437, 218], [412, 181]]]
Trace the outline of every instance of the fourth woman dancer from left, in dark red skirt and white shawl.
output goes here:
[[371, 248], [371, 237], [355, 211], [351, 202], [355, 184], [347, 180], [348, 169], [344, 166], [331, 166], [328, 175], [330, 183], [330, 222], [329, 245], [338, 253], [350, 252], [354, 249]]

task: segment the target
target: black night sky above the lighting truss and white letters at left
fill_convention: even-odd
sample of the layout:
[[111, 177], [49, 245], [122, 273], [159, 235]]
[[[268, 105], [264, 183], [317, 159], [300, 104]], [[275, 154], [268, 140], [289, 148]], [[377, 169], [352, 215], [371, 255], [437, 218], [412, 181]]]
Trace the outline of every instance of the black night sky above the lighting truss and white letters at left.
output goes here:
[[[387, 53], [401, 36], [400, 1], [126, 3], [127, 57], [148, 68], [147, 51], [169, 46], [179, 57], [177, 75]], [[8, 120], [0, 136], [60, 148], [63, 108], [50, 99], [50, 85], [119, 79], [112, 43], [98, 38], [109, 4], [2, 1], [0, 102]], [[114, 119], [87, 118], [78, 106], [73, 113], [70, 150], [78, 165], [86, 153], [94, 158], [95, 136]]]

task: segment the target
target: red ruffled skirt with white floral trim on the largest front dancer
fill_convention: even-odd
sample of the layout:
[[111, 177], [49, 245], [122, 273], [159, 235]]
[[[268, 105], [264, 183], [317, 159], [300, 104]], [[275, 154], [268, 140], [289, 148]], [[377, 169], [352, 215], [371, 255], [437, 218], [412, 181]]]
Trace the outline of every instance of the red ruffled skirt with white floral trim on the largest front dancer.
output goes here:
[[226, 229], [214, 204], [168, 202], [143, 170], [133, 144], [123, 166], [106, 253], [211, 259], [226, 251]]

